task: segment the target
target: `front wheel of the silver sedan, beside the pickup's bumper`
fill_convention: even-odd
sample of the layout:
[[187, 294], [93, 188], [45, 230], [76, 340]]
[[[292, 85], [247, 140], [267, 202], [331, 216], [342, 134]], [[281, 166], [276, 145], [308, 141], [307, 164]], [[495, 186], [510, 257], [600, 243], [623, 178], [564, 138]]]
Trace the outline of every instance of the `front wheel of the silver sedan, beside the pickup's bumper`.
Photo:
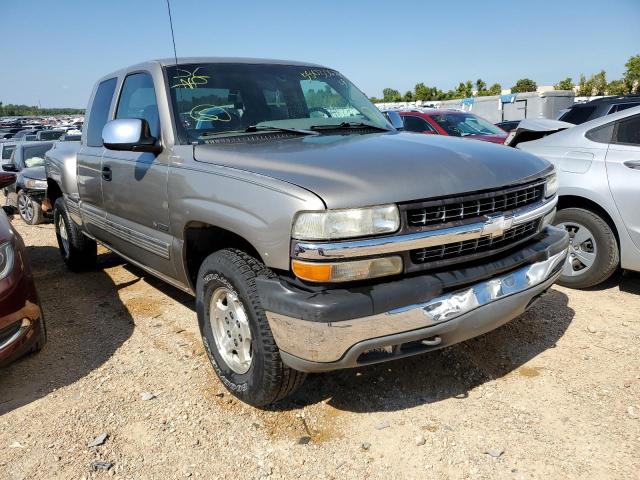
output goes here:
[[558, 284], [589, 288], [607, 280], [620, 264], [616, 236], [600, 216], [583, 208], [558, 211], [554, 224], [569, 232], [569, 255]]

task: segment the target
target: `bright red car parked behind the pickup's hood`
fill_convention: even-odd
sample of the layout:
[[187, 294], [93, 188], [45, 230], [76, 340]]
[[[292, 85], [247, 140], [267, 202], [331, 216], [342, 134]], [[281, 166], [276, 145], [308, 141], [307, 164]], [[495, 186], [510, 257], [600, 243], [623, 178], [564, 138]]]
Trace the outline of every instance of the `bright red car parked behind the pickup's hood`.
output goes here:
[[484, 118], [459, 110], [408, 110], [399, 112], [407, 132], [471, 138], [504, 143], [507, 132]]

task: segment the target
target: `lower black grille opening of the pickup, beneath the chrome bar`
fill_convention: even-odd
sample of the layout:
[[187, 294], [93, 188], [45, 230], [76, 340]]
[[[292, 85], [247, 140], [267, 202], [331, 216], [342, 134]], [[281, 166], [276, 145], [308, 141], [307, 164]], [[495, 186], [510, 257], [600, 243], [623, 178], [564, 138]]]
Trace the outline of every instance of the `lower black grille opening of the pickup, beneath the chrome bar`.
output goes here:
[[439, 262], [455, 258], [464, 261], [466, 257], [478, 253], [496, 253], [526, 240], [538, 231], [540, 219], [531, 220], [516, 227], [512, 227], [497, 237], [482, 237], [475, 240], [448, 243], [437, 247], [419, 248], [411, 250], [411, 261], [415, 264]]

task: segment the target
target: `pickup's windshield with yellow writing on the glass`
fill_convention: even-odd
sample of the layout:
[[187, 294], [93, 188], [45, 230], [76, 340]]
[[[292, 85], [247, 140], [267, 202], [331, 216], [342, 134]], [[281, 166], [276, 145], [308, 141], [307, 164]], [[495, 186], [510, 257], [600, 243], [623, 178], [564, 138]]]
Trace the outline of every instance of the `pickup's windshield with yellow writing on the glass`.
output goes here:
[[232, 135], [249, 126], [308, 130], [365, 123], [391, 130], [380, 111], [335, 70], [273, 64], [167, 67], [183, 142]]

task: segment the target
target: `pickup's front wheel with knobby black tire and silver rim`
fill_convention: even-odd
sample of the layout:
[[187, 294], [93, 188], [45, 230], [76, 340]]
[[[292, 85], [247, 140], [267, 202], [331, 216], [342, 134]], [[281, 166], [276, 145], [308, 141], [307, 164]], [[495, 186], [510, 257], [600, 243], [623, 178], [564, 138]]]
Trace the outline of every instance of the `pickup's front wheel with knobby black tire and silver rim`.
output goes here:
[[198, 323], [209, 360], [224, 386], [250, 405], [274, 403], [306, 375], [282, 363], [255, 279], [269, 270], [240, 250], [209, 255], [196, 286]]

